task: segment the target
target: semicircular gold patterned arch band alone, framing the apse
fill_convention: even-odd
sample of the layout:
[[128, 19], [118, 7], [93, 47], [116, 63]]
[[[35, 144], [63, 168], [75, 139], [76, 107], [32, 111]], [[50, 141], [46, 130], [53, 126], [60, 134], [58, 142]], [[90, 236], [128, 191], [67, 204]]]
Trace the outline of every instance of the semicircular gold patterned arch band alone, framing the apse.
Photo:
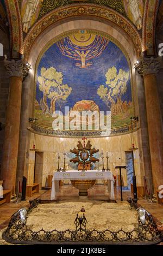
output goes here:
[[[35, 23], [32, 29], [28, 32], [24, 39], [24, 58], [28, 60], [30, 48], [32, 47], [36, 38], [45, 30], [57, 21], [62, 21], [68, 17], [98, 17], [105, 21], [111, 21], [121, 27], [126, 32], [135, 45], [135, 49], [140, 56], [142, 52], [142, 41], [135, 26], [126, 19], [123, 15], [118, 14], [111, 8], [102, 7], [96, 4], [74, 4], [66, 7], [58, 8], [47, 15], [43, 16], [39, 21]], [[67, 21], [67, 20], [66, 20]]]

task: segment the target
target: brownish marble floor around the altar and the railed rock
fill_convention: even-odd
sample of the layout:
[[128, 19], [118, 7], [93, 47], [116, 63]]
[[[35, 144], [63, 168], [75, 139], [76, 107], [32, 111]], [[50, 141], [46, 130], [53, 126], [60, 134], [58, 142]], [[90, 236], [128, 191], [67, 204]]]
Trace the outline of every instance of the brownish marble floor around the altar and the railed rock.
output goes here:
[[[121, 203], [121, 193], [120, 187], [115, 187], [115, 199], [117, 203]], [[26, 201], [22, 201], [19, 204], [4, 203], [0, 205], [0, 230], [7, 227], [10, 217], [21, 207], [28, 207], [29, 200], [34, 198], [40, 198], [42, 200], [49, 200], [51, 196], [51, 190], [40, 190], [39, 193], [35, 193], [32, 198], [27, 197]], [[127, 200], [131, 197], [130, 191], [123, 191], [123, 200]], [[72, 185], [64, 185], [60, 187], [59, 193], [57, 195], [58, 200], [80, 200], [78, 195], [78, 189], [74, 188]], [[88, 196], [85, 200], [108, 200], [107, 186], [102, 184], [96, 184], [93, 188], [88, 190]], [[83, 198], [82, 198], [83, 201]], [[150, 212], [157, 222], [157, 224], [163, 223], [163, 204], [152, 204], [148, 203], [147, 200], [139, 199], [139, 205], [144, 207], [148, 212]]]

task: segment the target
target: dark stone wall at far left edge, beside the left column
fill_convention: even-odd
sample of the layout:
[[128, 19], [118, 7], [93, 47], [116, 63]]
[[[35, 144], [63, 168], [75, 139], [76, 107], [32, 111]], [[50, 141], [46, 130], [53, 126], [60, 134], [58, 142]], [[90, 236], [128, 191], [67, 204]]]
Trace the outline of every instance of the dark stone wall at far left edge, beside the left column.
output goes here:
[[[9, 38], [8, 34], [0, 29], [0, 43], [3, 45], [3, 55], [9, 55]], [[4, 125], [6, 109], [8, 104], [9, 94], [9, 78], [4, 67], [4, 57], [0, 57], [0, 123], [2, 123], [2, 130], [0, 130], [0, 164], [2, 162], [3, 139], [4, 139]]]

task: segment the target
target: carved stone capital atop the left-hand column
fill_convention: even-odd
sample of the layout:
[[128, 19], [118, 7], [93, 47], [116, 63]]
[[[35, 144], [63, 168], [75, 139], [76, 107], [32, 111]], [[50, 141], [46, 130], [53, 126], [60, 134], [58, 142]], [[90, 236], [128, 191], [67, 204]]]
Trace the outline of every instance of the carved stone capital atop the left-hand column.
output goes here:
[[7, 69], [7, 73], [9, 77], [11, 76], [18, 76], [23, 78], [26, 78], [28, 75], [29, 69], [31, 69], [30, 64], [27, 61], [24, 61], [24, 59], [4, 59], [4, 66]]

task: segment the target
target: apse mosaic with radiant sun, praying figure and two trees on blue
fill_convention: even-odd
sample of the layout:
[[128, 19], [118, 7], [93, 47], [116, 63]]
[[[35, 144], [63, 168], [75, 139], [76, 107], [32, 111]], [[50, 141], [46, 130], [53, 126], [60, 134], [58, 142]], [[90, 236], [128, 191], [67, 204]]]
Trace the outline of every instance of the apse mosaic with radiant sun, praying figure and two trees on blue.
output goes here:
[[65, 106], [70, 113], [110, 110], [112, 128], [130, 123], [134, 105], [129, 64], [108, 37], [84, 29], [71, 32], [46, 48], [36, 71], [37, 124], [52, 128], [53, 112], [65, 114]]

